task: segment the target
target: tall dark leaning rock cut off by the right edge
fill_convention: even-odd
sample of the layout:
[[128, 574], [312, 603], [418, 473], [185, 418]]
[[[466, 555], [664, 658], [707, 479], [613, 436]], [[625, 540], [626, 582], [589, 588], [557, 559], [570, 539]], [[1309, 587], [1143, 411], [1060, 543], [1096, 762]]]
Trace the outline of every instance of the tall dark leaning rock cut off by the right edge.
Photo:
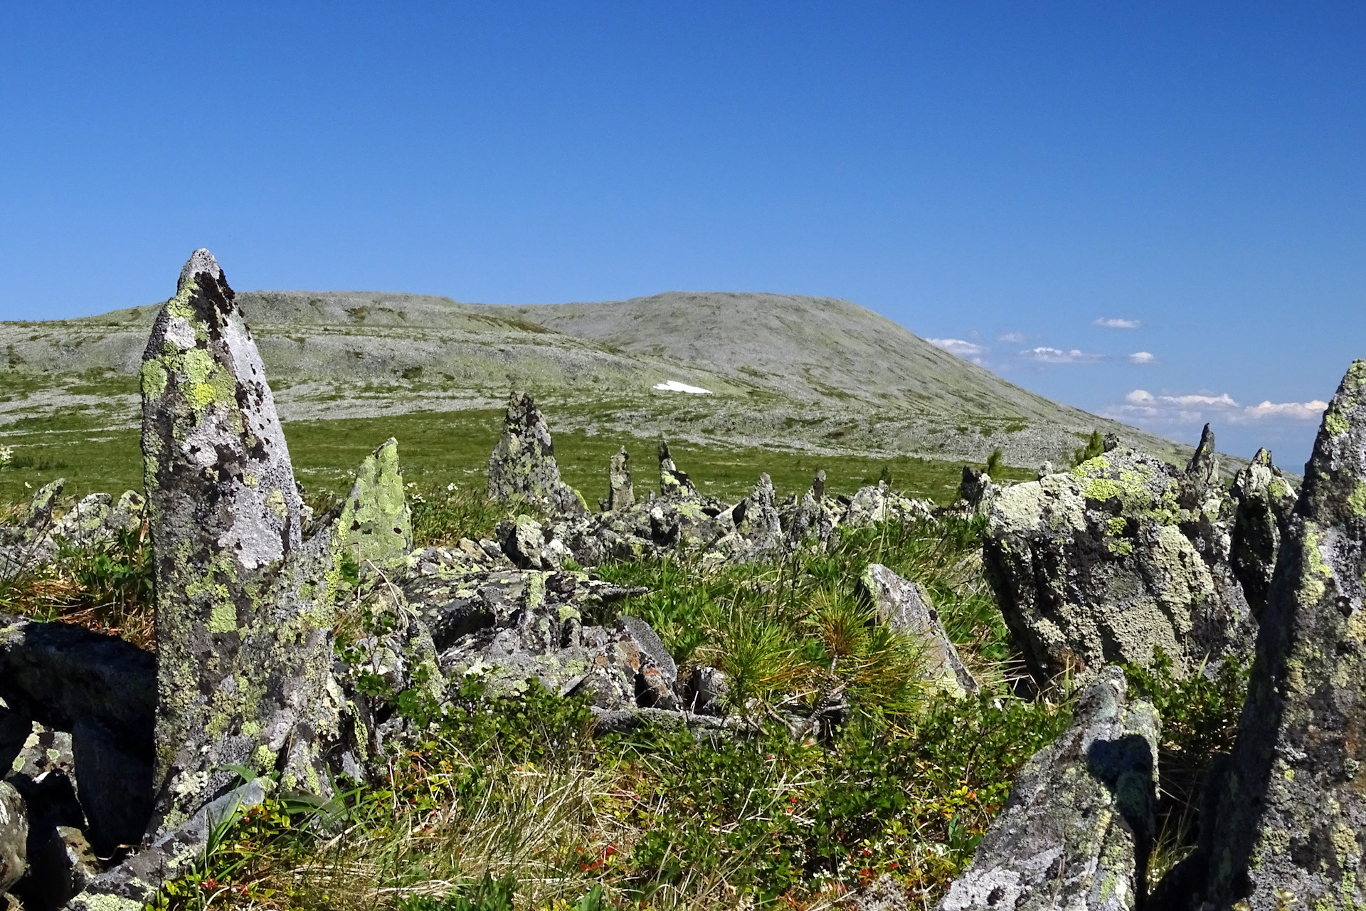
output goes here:
[[1324, 412], [1281, 542], [1210, 825], [1206, 907], [1366, 904], [1363, 729], [1366, 361], [1358, 361]]

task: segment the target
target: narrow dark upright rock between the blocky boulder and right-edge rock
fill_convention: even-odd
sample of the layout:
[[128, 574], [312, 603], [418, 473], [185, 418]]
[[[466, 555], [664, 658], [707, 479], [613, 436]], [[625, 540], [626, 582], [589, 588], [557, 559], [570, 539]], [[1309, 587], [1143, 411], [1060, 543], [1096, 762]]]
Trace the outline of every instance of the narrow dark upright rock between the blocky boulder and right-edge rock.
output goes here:
[[1295, 508], [1295, 488], [1272, 464], [1272, 453], [1258, 449], [1251, 463], [1233, 475], [1229, 496], [1233, 508], [1229, 563], [1249, 606], [1259, 617], [1270, 591], [1281, 535]]

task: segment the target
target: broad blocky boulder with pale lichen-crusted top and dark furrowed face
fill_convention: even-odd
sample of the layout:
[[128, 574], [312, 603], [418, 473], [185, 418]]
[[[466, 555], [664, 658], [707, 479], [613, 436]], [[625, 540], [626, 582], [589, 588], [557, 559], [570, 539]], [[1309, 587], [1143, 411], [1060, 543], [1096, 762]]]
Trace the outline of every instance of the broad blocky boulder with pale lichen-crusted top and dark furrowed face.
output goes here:
[[1246, 656], [1255, 620], [1209, 505], [1183, 473], [1132, 449], [1003, 489], [984, 561], [1034, 677], [1147, 665], [1156, 649], [1182, 675]]

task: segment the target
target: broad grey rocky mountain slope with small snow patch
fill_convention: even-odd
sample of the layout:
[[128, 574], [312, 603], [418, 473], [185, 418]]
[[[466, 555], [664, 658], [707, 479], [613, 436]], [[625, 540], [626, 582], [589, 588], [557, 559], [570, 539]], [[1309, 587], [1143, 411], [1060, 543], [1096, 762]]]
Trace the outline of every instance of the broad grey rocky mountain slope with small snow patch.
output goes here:
[[[1184, 462], [1190, 448], [1049, 402], [848, 300], [665, 292], [601, 303], [489, 306], [384, 292], [238, 295], [285, 419], [497, 407], [511, 388], [559, 426], [719, 445], [1065, 462], [1115, 432]], [[3, 423], [83, 408], [135, 421], [156, 306], [0, 324]], [[656, 389], [673, 381], [712, 395]]]

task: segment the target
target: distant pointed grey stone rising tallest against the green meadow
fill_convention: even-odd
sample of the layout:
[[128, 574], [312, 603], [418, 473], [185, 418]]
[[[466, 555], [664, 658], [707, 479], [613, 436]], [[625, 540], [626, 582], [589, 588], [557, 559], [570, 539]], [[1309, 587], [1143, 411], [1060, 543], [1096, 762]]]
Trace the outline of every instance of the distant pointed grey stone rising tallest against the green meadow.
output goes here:
[[503, 438], [489, 456], [489, 496], [525, 500], [552, 514], [582, 515], [587, 504], [560, 479], [555, 444], [545, 418], [526, 392], [514, 392], [503, 421]]

